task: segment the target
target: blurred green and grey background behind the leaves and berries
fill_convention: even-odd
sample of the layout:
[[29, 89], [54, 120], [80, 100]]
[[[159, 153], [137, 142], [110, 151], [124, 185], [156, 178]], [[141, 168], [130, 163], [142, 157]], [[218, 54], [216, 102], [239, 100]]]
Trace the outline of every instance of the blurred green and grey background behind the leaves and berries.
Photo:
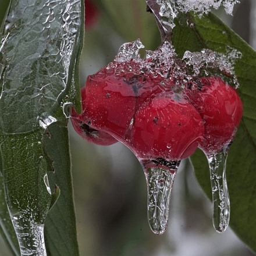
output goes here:
[[[1, 10], [6, 2], [1, 0]], [[88, 74], [113, 60], [123, 42], [140, 38], [151, 50], [160, 42], [154, 17], [145, 12], [144, 0], [125, 0], [132, 4], [130, 9], [118, 9], [113, 6], [114, 0], [92, 2], [98, 13], [85, 33], [81, 86]], [[240, 2], [233, 16], [226, 15], [223, 9], [215, 13], [254, 47], [255, 0]], [[145, 177], [130, 150], [121, 143], [108, 147], [89, 144], [70, 124], [69, 133], [81, 256], [254, 255], [230, 228], [223, 234], [215, 232], [211, 202], [195, 181], [188, 160], [177, 172], [168, 228], [158, 236], [148, 226]], [[10, 255], [2, 239], [0, 255]]]

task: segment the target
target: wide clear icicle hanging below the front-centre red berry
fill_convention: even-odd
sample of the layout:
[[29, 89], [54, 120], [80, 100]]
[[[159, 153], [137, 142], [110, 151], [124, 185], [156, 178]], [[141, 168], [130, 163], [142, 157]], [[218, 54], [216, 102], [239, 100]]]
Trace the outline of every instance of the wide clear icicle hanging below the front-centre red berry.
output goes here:
[[164, 163], [169, 167], [141, 161], [148, 188], [148, 223], [155, 234], [164, 233], [168, 225], [170, 195], [179, 166], [179, 162]]

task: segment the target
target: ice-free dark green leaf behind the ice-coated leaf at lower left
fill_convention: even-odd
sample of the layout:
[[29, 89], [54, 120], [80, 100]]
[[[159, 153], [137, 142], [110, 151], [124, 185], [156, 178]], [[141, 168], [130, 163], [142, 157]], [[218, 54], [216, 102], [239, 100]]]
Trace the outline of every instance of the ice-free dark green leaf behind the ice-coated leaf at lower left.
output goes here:
[[67, 127], [57, 123], [49, 126], [47, 152], [54, 161], [54, 173], [49, 173], [52, 188], [56, 184], [61, 193], [45, 221], [45, 243], [48, 256], [79, 255], [76, 238], [76, 218], [73, 205], [72, 177], [70, 173], [69, 138]]

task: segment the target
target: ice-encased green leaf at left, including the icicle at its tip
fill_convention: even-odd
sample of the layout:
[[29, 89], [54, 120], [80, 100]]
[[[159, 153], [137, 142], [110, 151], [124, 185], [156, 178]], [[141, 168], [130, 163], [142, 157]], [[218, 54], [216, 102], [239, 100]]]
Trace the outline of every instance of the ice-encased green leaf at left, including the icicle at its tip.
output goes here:
[[[14, 160], [9, 169], [3, 165], [2, 173], [22, 256], [47, 255], [44, 219], [51, 189], [45, 173], [51, 163], [44, 159], [41, 133], [52, 123], [62, 121], [62, 117], [56, 116], [62, 116], [59, 109], [65, 110], [69, 103], [65, 97], [73, 90], [70, 87], [74, 84], [72, 69], [81, 42], [81, 17], [78, 0], [13, 0], [1, 31], [1, 162], [9, 157], [7, 150], [3, 150], [3, 141], [12, 136], [17, 143], [13, 143], [11, 150], [8, 147], [12, 140], [6, 143], [9, 155], [22, 156], [23, 161]], [[30, 174], [26, 179], [24, 172]]]

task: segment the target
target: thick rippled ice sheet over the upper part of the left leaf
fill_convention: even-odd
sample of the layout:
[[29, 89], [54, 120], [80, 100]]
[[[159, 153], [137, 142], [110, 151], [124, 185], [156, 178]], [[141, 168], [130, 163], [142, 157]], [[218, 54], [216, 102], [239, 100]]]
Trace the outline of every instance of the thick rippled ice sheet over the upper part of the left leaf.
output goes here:
[[80, 1], [31, 2], [13, 1], [3, 26], [0, 126], [6, 133], [33, 130], [38, 117], [58, 108], [79, 42]]

